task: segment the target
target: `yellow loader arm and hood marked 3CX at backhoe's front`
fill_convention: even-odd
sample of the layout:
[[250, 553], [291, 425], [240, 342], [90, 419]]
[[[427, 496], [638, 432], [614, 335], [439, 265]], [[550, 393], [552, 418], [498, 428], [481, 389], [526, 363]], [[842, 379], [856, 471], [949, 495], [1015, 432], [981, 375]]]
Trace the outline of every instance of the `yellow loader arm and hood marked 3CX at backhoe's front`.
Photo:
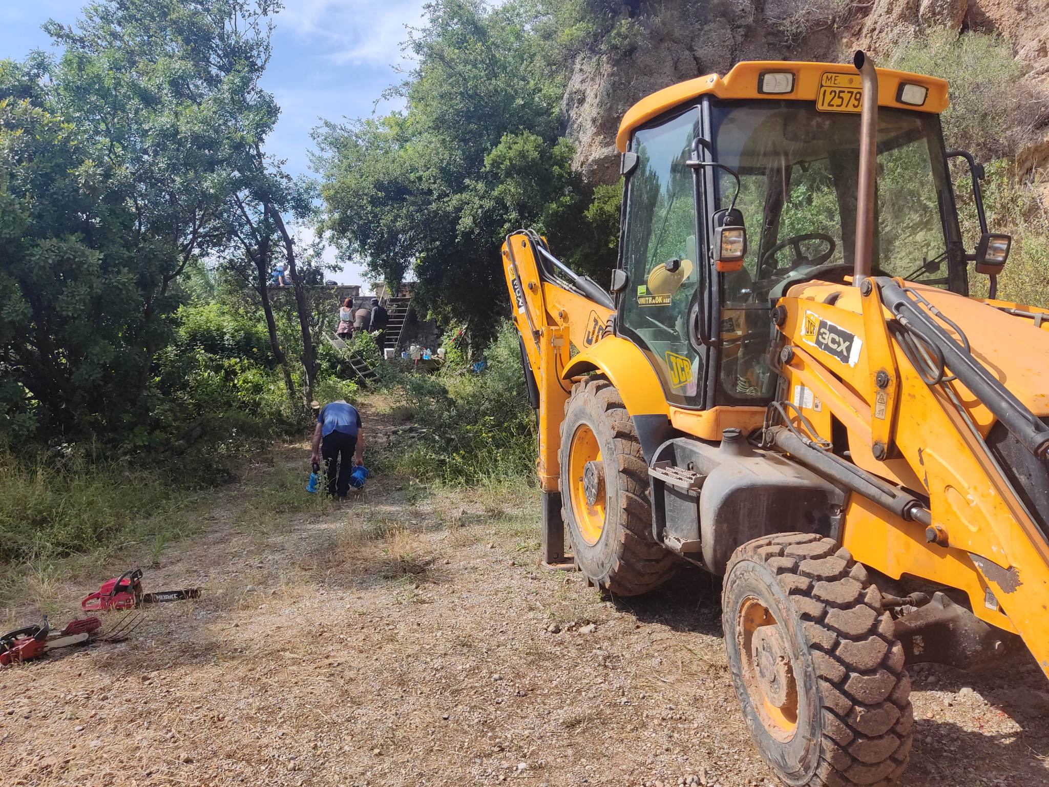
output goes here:
[[1045, 483], [1010, 474], [992, 448], [1046, 473], [1049, 336], [998, 304], [894, 279], [862, 284], [799, 284], [777, 312], [784, 398], [832, 444], [825, 459], [914, 502], [894, 511], [851, 495], [842, 546], [890, 577], [964, 591], [1049, 675]]

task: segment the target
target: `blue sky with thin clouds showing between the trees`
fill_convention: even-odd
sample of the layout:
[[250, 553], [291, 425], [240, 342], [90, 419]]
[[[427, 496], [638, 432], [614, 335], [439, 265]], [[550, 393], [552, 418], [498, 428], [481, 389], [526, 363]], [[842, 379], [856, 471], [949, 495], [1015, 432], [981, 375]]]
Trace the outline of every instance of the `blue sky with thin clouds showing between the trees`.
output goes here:
[[[263, 84], [281, 107], [269, 150], [294, 174], [308, 172], [309, 132], [318, 119], [339, 121], [376, 111], [382, 91], [399, 81], [405, 25], [416, 26], [424, 0], [284, 0], [276, 17], [273, 60]], [[0, 58], [55, 50], [40, 26], [74, 22], [83, 0], [0, 0]], [[379, 112], [389, 111], [380, 103]], [[334, 250], [327, 253], [334, 259]], [[348, 264], [335, 278], [363, 283]]]

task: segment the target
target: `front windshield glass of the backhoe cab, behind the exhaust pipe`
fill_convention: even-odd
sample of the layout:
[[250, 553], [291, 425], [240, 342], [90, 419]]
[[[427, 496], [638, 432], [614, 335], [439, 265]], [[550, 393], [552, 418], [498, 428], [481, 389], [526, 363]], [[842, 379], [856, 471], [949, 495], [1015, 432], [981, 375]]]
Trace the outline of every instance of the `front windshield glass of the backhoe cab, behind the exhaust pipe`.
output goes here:
[[[710, 118], [713, 161], [740, 175], [748, 238], [743, 270], [722, 277], [715, 398], [757, 403], [775, 385], [767, 358], [773, 288], [813, 264], [841, 265], [841, 274], [853, 267], [859, 114], [796, 101], [712, 101]], [[876, 275], [951, 280], [944, 231], [945, 217], [955, 219], [941, 140], [935, 114], [878, 110]], [[727, 208], [735, 182], [719, 170], [718, 187], [718, 207]]]

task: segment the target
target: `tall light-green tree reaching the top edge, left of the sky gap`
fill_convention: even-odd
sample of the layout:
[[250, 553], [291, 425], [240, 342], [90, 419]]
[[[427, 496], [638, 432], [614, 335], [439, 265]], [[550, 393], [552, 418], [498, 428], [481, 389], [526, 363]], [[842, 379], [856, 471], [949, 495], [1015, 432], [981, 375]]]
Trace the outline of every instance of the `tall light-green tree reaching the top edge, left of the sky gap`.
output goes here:
[[65, 46], [53, 100], [109, 167], [135, 221], [144, 320], [140, 393], [177, 305], [172, 285], [228, 239], [224, 211], [279, 108], [259, 87], [277, 0], [98, 0], [74, 26], [44, 25]]

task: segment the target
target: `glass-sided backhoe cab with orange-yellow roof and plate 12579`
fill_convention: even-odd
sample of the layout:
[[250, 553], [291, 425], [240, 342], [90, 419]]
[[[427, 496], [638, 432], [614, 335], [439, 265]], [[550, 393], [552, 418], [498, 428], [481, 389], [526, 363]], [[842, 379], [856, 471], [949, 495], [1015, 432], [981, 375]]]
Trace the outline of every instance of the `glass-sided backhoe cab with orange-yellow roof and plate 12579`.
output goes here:
[[[965, 294], [976, 255], [961, 242], [940, 127], [947, 85], [878, 73], [872, 270]], [[617, 329], [671, 405], [768, 404], [775, 299], [852, 275], [861, 95], [849, 66], [744, 62], [624, 116]]]

